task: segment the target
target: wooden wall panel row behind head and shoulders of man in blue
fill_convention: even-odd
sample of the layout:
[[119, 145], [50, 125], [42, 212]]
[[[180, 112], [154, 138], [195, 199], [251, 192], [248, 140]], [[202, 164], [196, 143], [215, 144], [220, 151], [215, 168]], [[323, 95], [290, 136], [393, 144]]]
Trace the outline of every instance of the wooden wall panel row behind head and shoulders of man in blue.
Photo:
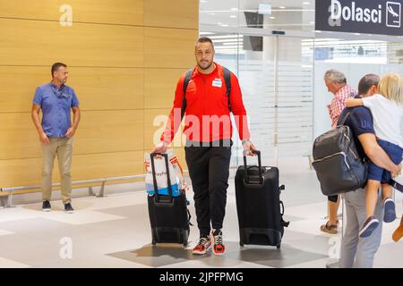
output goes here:
[[[0, 113], [29, 112], [36, 88], [51, 80], [50, 66], [0, 66]], [[74, 88], [81, 110], [143, 108], [142, 69], [69, 67], [68, 71], [67, 85]]]

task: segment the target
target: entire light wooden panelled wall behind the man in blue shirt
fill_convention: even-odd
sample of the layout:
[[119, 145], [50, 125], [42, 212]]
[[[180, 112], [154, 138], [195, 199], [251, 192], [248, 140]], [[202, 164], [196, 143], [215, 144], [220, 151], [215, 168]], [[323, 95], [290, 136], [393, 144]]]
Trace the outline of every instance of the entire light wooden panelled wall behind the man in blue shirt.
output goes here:
[[[69, 66], [81, 102], [73, 180], [143, 173], [144, 152], [165, 128], [152, 121], [167, 119], [176, 82], [194, 65], [198, 3], [70, 0], [73, 26], [62, 27], [62, 0], [0, 0], [0, 187], [40, 184], [30, 108], [56, 62]], [[186, 168], [181, 144], [175, 153]]]

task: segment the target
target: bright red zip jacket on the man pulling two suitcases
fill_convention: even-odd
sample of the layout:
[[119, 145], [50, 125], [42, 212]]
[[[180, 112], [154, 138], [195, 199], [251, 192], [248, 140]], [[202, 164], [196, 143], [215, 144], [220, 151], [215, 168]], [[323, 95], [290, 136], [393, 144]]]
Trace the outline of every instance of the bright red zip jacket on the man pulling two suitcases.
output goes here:
[[[232, 138], [232, 123], [229, 116], [227, 87], [223, 68], [215, 63], [216, 68], [210, 74], [202, 74], [197, 65], [186, 89], [186, 109], [184, 116], [184, 134], [186, 138], [197, 142], [212, 142]], [[174, 107], [169, 114], [167, 128], [161, 140], [170, 143], [181, 124], [181, 108], [184, 98], [185, 73], [176, 85]], [[241, 88], [236, 75], [231, 72], [231, 111], [234, 114], [239, 138], [249, 139], [246, 111], [242, 101]]]

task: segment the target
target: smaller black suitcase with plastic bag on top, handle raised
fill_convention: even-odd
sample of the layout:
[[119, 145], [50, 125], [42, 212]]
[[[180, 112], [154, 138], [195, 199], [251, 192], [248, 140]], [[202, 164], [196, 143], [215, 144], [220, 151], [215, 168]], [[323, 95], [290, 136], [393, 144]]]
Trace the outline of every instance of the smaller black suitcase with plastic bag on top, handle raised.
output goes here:
[[[167, 167], [168, 196], [159, 195], [155, 177], [154, 157], [163, 156]], [[172, 196], [167, 154], [151, 154], [151, 168], [155, 194], [148, 196], [152, 245], [157, 243], [182, 243], [187, 245], [189, 237], [190, 213], [184, 190], [178, 197]]]

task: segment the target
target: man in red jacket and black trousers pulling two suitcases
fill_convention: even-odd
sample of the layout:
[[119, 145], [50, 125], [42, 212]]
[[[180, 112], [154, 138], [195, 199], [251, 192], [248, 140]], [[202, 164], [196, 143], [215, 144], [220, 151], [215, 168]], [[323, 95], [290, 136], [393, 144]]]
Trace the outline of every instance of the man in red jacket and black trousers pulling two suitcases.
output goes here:
[[174, 139], [184, 111], [184, 134], [187, 139], [184, 151], [200, 231], [200, 240], [193, 248], [193, 254], [205, 254], [212, 248], [216, 255], [222, 255], [225, 246], [221, 229], [227, 204], [233, 143], [230, 112], [234, 114], [246, 154], [253, 156], [251, 150], [255, 147], [250, 141], [246, 111], [236, 75], [230, 72], [228, 98], [224, 68], [213, 62], [214, 46], [211, 39], [199, 38], [194, 54], [197, 65], [193, 68], [185, 93], [186, 74], [177, 82], [174, 107], [169, 114], [167, 128], [153, 152], [167, 151], [167, 145]]

